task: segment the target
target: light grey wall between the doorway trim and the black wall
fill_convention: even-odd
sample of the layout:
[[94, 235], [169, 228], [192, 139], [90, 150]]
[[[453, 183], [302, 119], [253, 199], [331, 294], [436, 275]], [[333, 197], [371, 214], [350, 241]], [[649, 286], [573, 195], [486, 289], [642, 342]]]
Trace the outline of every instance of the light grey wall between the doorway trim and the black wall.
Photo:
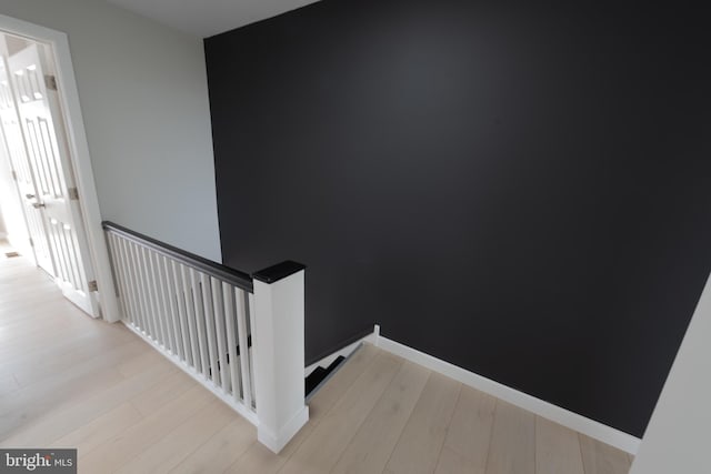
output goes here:
[[96, 0], [0, 0], [69, 37], [101, 216], [221, 261], [202, 40]]

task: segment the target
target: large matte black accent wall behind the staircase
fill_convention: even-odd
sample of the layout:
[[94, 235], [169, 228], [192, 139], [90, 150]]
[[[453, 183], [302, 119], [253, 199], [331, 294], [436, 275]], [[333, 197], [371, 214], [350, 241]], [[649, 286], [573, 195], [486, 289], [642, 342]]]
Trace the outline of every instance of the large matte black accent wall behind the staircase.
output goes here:
[[[641, 436], [711, 270], [708, 16], [323, 0], [206, 40], [223, 261]], [[700, 374], [700, 376], [702, 376]]]

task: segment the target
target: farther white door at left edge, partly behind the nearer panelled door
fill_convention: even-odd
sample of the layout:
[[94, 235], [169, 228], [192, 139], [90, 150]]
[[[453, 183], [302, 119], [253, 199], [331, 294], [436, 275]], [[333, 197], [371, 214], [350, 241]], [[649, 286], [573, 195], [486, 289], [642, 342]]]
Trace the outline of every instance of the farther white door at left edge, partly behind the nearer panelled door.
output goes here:
[[34, 206], [39, 191], [34, 182], [34, 174], [28, 162], [27, 149], [14, 104], [12, 83], [8, 74], [7, 57], [0, 58], [0, 123], [4, 138], [6, 150], [10, 158], [10, 165], [20, 193], [23, 214], [31, 238], [31, 249], [37, 264], [49, 274], [54, 275], [54, 264], [44, 228], [43, 209]]

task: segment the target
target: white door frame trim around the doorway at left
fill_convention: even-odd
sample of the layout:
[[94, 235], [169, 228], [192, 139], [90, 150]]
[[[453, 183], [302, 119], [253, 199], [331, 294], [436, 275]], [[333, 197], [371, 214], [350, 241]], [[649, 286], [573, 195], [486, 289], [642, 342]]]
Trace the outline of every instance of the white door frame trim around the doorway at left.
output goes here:
[[94, 278], [100, 290], [99, 307], [101, 316], [108, 322], [117, 322], [121, 316], [114, 291], [116, 285], [113, 283], [109, 251], [101, 226], [99, 195], [97, 194], [91, 168], [91, 155], [79, 103], [79, 90], [69, 50], [69, 39], [61, 31], [4, 14], [0, 14], [0, 30], [46, 43], [50, 46], [54, 56], [56, 75], [59, 83], [58, 92], [69, 144], [69, 158], [73, 168], [79, 201], [81, 202], [81, 216], [84, 221], [87, 242], [91, 253], [90, 255], [82, 255], [82, 259], [89, 259], [93, 265]]

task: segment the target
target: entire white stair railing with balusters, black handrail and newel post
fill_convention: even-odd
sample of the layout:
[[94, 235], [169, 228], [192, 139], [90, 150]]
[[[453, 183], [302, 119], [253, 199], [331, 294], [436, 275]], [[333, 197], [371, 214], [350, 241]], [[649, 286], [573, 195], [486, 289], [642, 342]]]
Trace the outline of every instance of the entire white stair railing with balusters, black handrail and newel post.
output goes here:
[[252, 275], [103, 222], [122, 322], [278, 453], [308, 422], [304, 265]]

